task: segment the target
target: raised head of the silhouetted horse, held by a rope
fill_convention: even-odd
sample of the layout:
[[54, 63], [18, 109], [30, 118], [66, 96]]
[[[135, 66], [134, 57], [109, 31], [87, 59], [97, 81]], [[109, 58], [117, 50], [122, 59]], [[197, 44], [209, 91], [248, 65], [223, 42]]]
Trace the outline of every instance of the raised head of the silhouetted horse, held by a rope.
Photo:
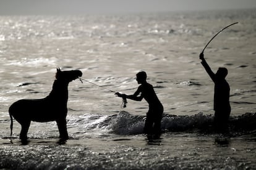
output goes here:
[[61, 81], [73, 81], [83, 75], [80, 70], [70, 70], [70, 71], [61, 71], [60, 68], [57, 68], [57, 73], [55, 75], [56, 79]]

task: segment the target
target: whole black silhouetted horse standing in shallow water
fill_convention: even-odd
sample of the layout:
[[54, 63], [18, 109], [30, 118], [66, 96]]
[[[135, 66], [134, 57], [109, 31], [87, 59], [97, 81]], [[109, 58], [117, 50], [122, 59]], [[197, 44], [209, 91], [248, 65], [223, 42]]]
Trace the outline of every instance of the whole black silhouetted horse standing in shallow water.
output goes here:
[[31, 121], [56, 121], [61, 140], [69, 139], [67, 133], [67, 100], [69, 83], [82, 76], [80, 70], [61, 71], [57, 68], [53, 89], [43, 99], [22, 99], [9, 107], [11, 117], [11, 136], [13, 118], [21, 125], [20, 139], [27, 141], [27, 132]]

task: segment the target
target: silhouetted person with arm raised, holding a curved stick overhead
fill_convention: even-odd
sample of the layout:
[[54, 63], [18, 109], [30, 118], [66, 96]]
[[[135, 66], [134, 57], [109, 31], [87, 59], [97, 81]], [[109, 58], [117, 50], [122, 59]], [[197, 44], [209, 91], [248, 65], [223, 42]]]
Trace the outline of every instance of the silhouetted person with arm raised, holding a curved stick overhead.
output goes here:
[[226, 131], [228, 128], [228, 119], [231, 112], [231, 107], [229, 104], [229, 84], [226, 81], [226, 75], [228, 75], [228, 70], [226, 68], [220, 67], [218, 71], [213, 73], [211, 68], [207, 64], [203, 53], [200, 54], [200, 59], [202, 60], [202, 65], [207, 71], [210, 78], [215, 83], [214, 87], [214, 127], [218, 132]]

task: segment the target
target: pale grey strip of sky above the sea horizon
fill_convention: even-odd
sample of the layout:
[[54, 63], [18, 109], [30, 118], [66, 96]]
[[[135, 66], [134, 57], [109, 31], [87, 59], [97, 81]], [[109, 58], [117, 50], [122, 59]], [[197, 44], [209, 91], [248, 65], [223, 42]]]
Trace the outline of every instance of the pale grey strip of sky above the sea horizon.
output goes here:
[[0, 0], [0, 15], [118, 14], [256, 9], [256, 0]]

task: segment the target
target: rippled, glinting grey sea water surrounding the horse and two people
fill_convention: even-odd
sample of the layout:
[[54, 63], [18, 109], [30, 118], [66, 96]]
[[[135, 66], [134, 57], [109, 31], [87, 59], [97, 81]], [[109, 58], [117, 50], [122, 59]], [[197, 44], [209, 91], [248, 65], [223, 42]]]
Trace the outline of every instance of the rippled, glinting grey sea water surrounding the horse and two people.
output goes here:
[[[213, 71], [228, 68], [228, 134], [211, 131], [214, 84], [198, 59], [205, 49]], [[256, 10], [161, 14], [0, 16], [1, 169], [256, 169]], [[79, 79], [69, 84], [67, 131], [32, 122], [19, 140], [9, 106], [51, 91], [56, 68], [81, 70], [83, 79], [133, 94], [146, 71], [163, 103], [163, 134], [142, 134], [145, 100], [121, 99]], [[35, 113], [36, 114], [36, 113]]]

